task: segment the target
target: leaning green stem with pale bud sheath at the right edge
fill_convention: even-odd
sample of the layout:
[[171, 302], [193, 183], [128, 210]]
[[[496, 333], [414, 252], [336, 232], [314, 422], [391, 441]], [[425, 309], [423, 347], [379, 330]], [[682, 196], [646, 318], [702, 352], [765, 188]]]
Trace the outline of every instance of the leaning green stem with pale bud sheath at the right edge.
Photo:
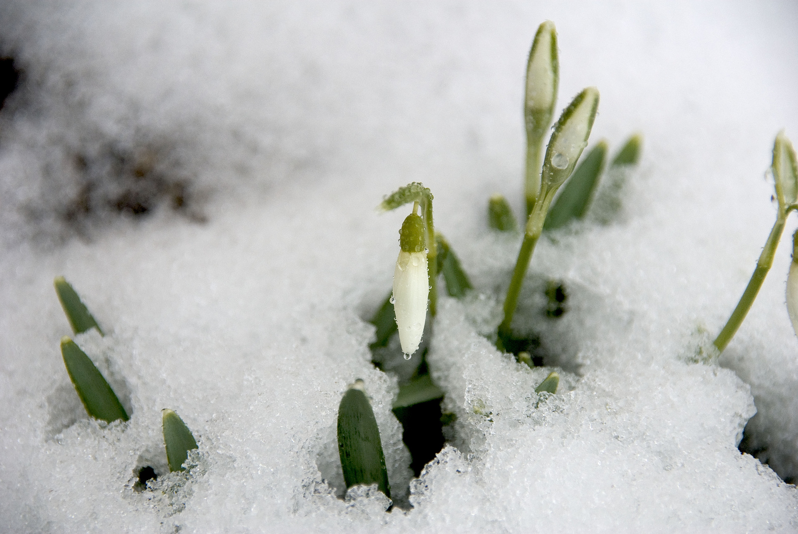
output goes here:
[[713, 341], [718, 353], [725, 350], [734, 334], [737, 333], [737, 329], [740, 328], [743, 320], [745, 320], [745, 316], [751, 309], [753, 301], [757, 298], [759, 289], [762, 287], [764, 277], [768, 275], [768, 271], [773, 265], [773, 257], [776, 256], [776, 247], [778, 247], [781, 234], [784, 232], [784, 223], [787, 220], [787, 216], [790, 211], [798, 207], [796, 206], [796, 194], [798, 194], [796, 151], [792, 148], [792, 143], [784, 135], [784, 132], [779, 132], [779, 135], [776, 135], [776, 142], [773, 143], [771, 171], [776, 187], [776, 199], [778, 200], [776, 223], [770, 230], [768, 241], [765, 241], [764, 249], [762, 249], [759, 260], [757, 260], [757, 268], [754, 269], [743, 295], [737, 302], [737, 307], [734, 308], [721, 333]]

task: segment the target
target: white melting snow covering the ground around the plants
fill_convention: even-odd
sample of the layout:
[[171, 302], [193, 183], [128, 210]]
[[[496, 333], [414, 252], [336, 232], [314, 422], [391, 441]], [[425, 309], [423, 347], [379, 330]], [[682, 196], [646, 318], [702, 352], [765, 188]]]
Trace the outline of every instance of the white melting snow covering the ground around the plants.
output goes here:
[[[479, 333], [519, 246], [485, 208], [500, 191], [520, 210], [523, 71], [546, 19], [558, 108], [595, 85], [592, 141], [645, 144], [621, 218], [535, 251], [522, 299], [546, 277], [571, 291], [535, 326], [564, 377], [539, 402], [551, 369]], [[792, 2], [3, 3], [24, 74], [0, 112], [0, 530], [796, 531], [794, 218], [718, 364], [689, 362], [775, 218], [764, 173], [776, 132], [798, 142], [796, 23]], [[364, 320], [405, 216], [374, 206], [410, 181], [476, 285], [440, 302], [429, 367], [457, 420], [413, 481]], [[69, 382], [61, 274], [108, 334], [76, 340], [128, 423], [90, 421]], [[412, 509], [336, 497], [357, 378]], [[137, 468], [164, 469], [164, 407], [196, 466], [136, 492]], [[746, 423], [770, 467], [737, 449]]]

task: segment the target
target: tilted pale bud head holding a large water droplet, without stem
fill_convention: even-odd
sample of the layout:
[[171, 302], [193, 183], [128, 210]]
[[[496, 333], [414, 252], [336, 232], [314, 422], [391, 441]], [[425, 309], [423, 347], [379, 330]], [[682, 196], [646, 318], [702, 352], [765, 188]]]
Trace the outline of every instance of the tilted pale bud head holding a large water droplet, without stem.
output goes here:
[[555, 124], [543, 160], [543, 187], [556, 190], [574, 170], [579, 155], [587, 146], [593, 121], [599, 110], [599, 89], [583, 89]]

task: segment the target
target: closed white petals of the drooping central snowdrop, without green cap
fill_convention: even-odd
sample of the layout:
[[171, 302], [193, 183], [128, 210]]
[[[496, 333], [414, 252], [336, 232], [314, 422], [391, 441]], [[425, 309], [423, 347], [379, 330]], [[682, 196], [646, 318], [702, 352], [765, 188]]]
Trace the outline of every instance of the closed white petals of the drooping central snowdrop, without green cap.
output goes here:
[[427, 319], [427, 253], [400, 252], [393, 270], [393, 310], [397, 316], [399, 341], [405, 354], [413, 354], [421, 343]]

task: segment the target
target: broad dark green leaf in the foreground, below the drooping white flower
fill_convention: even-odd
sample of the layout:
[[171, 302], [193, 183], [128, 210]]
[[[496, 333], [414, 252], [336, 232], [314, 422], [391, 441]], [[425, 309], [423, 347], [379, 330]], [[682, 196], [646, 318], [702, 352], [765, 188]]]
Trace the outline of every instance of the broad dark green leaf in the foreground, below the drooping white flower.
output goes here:
[[376, 483], [386, 497], [391, 496], [380, 430], [361, 379], [349, 387], [338, 407], [338, 454], [346, 489]]

